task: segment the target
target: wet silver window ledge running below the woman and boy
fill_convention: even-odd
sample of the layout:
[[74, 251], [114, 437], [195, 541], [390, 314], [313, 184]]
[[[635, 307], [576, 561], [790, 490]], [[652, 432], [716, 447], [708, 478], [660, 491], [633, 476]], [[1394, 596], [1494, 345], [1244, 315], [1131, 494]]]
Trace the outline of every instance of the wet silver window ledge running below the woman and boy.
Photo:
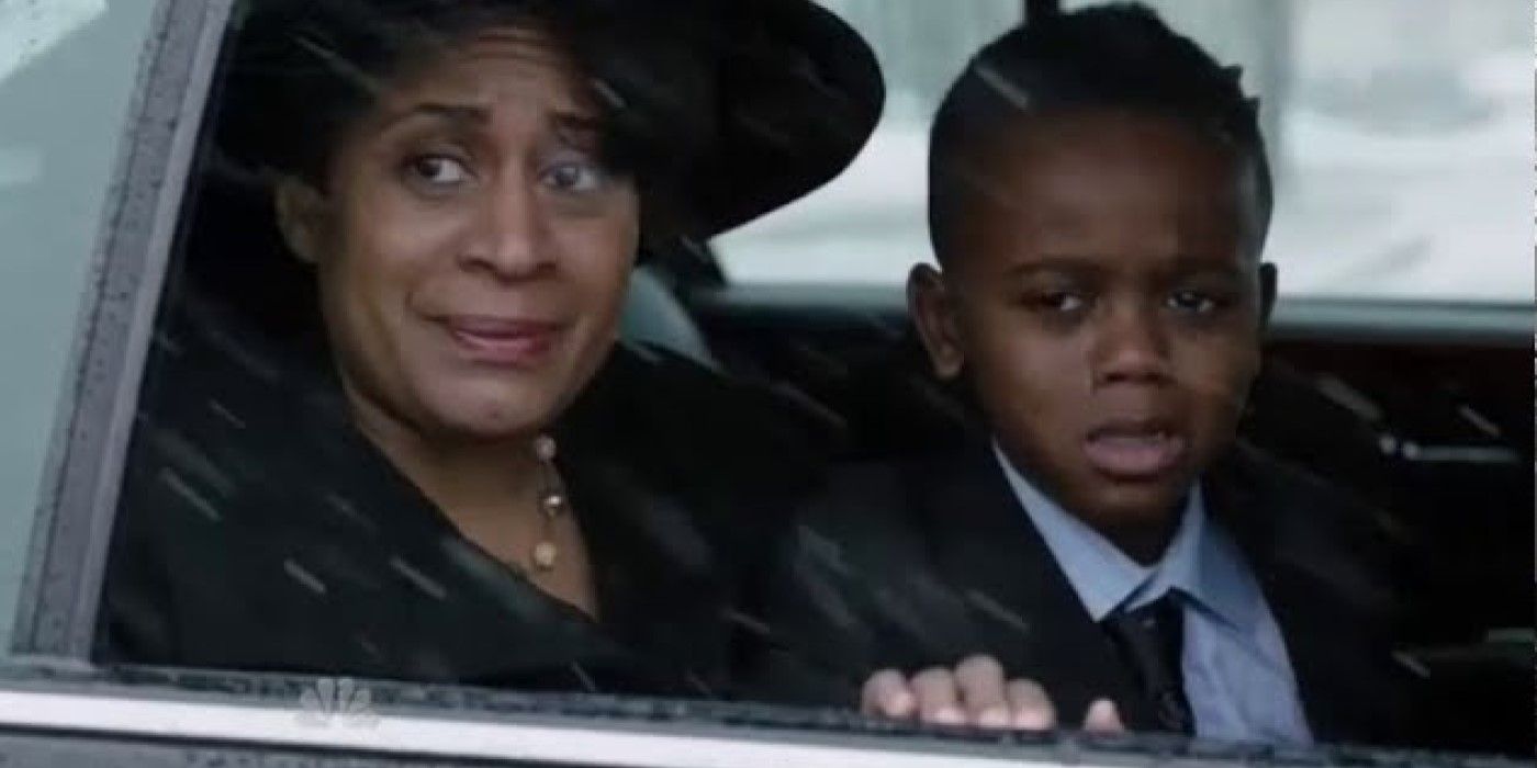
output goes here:
[[[576, 765], [604, 768], [1114, 768], [1165, 765], [1377, 765], [1466, 768], [1468, 756], [1349, 745], [1270, 746], [1173, 734], [998, 733], [911, 727], [836, 710], [642, 697], [527, 694], [367, 682], [370, 723], [306, 723], [315, 677], [138, 668], [46, 676], [0, 665], [0, 759], [8, 743], [100, 751], [134, 765], [307, 759], [363, 765]], [[161, 751], [154, 751], [163, 748]], [[25, 754], [23, 754], [25, 757]], [[1488, 768], [1522, 765], [1479, 757]], [[286, 765], [286, 763], [284, 763]], [[312, 765], [306, 762], [304, 765]]]

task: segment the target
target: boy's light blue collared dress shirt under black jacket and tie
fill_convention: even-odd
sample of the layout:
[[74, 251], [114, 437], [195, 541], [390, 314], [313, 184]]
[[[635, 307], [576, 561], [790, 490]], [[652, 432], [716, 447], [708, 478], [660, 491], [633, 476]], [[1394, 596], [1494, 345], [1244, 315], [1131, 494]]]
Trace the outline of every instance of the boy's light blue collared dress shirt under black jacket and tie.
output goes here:
[[1237, 544], [1211, 525], [1196, 485], [1164, 559], [1139, 565], [1041, 493], [994, 445], [1019, 504], [1097, 622], [1170, 590], [1187, 598], [1182, 667], [1196, 736], [1311, 743], [1280, 625]]

